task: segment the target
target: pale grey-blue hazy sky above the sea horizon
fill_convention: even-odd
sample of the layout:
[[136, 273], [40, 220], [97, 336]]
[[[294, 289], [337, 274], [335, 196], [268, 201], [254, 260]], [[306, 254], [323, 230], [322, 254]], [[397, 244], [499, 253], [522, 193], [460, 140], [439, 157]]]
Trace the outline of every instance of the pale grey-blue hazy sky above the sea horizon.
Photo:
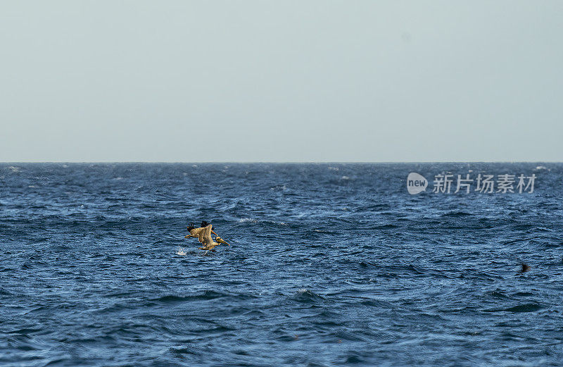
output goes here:
[[0, 161], [563, 161], [563, 1], [2, 1]]

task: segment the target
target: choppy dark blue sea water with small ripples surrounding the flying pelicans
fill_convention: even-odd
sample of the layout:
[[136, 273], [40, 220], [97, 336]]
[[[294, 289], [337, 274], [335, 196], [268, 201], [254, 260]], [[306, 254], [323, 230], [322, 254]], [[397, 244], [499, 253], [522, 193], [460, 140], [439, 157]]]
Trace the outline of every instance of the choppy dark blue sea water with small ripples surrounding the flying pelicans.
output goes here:
[[[432, 193], [444, 172], [537, 178]], [[562, 183], [554, 163], [1, 163], [0, 365], [562, 366]], [[184, 240], [201, 220], [232, 246]]]

